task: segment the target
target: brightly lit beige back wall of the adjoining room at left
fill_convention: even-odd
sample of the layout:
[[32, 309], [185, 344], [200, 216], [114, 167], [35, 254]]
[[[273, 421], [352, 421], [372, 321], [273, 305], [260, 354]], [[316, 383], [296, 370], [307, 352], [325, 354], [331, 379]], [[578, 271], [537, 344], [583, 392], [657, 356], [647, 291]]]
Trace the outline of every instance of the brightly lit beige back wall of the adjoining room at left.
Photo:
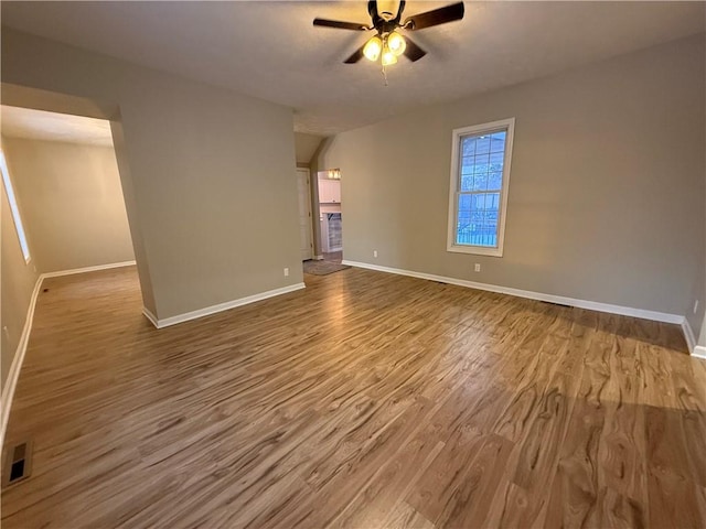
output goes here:
[[111, 147], [6, 138], [40, 272], [135, 259]]

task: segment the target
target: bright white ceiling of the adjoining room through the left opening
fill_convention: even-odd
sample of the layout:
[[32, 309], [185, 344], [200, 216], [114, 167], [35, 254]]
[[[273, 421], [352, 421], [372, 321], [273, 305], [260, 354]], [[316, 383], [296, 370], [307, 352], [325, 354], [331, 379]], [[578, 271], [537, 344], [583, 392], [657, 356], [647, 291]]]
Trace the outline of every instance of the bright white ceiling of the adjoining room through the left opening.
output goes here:
[[29, 108], [1, 107], [2, 136], [29, 140], [65, 141], [113, 147], [110, 122]]

